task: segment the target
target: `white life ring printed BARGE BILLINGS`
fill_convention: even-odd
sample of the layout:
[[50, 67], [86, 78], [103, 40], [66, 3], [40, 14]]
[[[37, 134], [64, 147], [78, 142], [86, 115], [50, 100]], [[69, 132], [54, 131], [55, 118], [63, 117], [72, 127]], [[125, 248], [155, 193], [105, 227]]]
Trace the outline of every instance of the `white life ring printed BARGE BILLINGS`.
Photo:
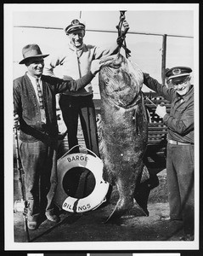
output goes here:
[[[102, 177], [104, 165], [96, 154], [87, 148], [86, 150], [95, 156], [87, 153], [69, 154], [70, 150], [58, 160], [58, 186], [54, 196], [54, 202], [67, 212], [87, 212], [99, 207], [105, 201], [105, 195], [108, 192], [110, 184], [105, 182]], [[63, 187], [65, 174], [74, 167], [86, 168], [93, 173], [95, 178], [93, 192], [81, 199], [67, 195]]]

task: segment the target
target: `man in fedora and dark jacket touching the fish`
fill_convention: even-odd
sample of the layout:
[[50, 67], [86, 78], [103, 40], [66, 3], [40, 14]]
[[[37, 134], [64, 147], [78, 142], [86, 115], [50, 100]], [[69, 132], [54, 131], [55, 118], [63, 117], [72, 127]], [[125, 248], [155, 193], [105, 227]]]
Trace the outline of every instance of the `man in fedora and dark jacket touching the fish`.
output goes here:
[[54, 193], [57, 185], [56, 152], [58, 125], [56, 118], [57, 93], [82, 90], [99, 71], [99, 61], [81, 79], [68, 80], [42, 75], [44, 58], [37, 44], [22, 49], [27, 72], [14, 79], [14, 127], [20, 121], [20, 160], [25, 172], [25, 196], [28, 201], [28, 228], [37, 229], [46, 216], [58, 222], [54, 212]]

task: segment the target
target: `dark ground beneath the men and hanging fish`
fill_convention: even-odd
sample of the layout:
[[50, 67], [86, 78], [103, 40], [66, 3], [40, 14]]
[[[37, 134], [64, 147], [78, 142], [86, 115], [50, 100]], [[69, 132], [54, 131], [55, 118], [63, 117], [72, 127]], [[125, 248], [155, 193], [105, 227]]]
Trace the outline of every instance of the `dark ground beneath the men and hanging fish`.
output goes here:
[[[45, 220], [37, 230], [30, 230], [31, 241], [178, 241], [183, 236], [182, 223], [161, 221], [169, 213], [166, 197], [166, 170], [157, 174], [160, 184], [149, 195], [149, 217], [138, 210], [137, 217], [123, 218], [120, 224], [104, 224], [115, 201], [84, 213], [60, 212], [61, 221]], [[14, 241], [26, 241], [23, 216], [14, 213]]]

